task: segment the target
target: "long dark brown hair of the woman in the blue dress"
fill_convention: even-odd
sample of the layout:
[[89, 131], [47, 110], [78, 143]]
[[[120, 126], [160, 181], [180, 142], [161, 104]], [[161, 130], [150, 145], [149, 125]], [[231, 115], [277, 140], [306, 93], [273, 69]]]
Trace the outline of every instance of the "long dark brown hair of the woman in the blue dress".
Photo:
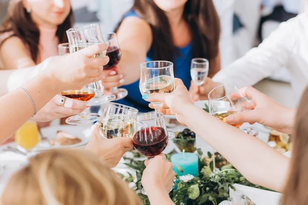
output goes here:
[[[134, 0], [131, 9], [137, 11], [151, 27], [153, 60], [173, 61], [178, 51], [164, 11], [153, 0]], [[213, 1], [188, 0], [183, 17], [190, 27], [192, 58], [204, 57], [209, 60], [210, 68], [216, 66], [214, 60], [219, 54], [220, 21]]]

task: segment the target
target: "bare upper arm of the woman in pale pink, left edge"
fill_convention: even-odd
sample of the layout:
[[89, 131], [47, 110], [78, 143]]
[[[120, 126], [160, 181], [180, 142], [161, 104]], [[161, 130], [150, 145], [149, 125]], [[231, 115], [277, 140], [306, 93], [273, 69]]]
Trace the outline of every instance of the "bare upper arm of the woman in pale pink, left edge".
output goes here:
[[31, 59], [25, 44], [16, 36], [8, 38], [2, 44], [0, 59], [6, 70], [35, 66], [35, 62]]

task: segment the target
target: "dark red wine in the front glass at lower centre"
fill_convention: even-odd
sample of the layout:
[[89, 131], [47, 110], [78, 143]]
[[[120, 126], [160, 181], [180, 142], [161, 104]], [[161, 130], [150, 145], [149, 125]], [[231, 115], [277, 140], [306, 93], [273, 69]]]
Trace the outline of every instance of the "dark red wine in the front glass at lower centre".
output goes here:
[[151, 158], [164, 151], [168, 144], [168, 135], [160, 127], [139, 130], [132, 138], [133, 147], [144, 156]]

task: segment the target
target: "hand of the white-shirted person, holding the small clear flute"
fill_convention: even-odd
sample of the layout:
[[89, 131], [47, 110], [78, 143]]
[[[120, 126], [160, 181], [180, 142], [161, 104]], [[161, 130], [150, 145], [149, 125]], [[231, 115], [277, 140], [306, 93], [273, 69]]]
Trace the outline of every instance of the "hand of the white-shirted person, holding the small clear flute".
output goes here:
[[204, 84], [197, 86], [194, 81], [191, 80], [189, 87], [189, 95], [193, 101], [206, 100], [208, 99], [208, 93], [214, 88], [221, 86], [221, 83], [216, 83], [211, 78], [207, 77], [204, 81]]

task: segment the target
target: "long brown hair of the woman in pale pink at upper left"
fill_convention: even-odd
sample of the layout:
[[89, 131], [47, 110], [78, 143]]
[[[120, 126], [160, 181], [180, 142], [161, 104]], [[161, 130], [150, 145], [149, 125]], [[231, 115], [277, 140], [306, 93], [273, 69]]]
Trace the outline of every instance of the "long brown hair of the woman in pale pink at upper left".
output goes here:
[[[56, 36], [59, 38], [59, 43], [68, 42], [65, 31], [72, 27], [73, 22], [73, 11], [71, 9], [64, 22], [57, 28]], [[12, 36], [22, 39], [23, 43], [28, 47], [31, 53], [32, 60], [36, 61], [38, 57], [40, 31], [38, 30], [37, 25], [33, 22], [30, 13], [28, 13], [26, 8], [24, 8], [22, 1], [11, 2], [8, 16], [0, 28], [0, 35], [7, 32], [11, 32], [12, 34], [6, 39]], [[0, 42], [0, 47], [6, 39]]]

